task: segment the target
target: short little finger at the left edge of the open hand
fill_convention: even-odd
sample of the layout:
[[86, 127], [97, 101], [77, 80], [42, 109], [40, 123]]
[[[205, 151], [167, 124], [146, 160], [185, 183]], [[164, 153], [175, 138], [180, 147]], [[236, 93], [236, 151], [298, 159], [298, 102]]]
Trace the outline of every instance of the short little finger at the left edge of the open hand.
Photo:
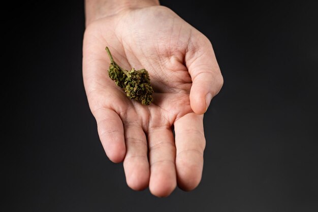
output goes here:
[[115, 163], [122, 162], [126, 148], [121, 119], [117, 113], [107, 108], [100, 108], [92, 113], [96, 118], [98, 133], [106, 155]]

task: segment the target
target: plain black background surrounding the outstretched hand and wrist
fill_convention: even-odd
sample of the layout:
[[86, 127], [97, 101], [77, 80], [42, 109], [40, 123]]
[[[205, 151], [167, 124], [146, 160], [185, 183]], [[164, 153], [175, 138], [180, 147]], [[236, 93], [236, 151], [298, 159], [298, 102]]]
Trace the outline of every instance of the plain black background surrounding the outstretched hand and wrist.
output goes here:
[[82, 83], [82, 1], [3, 10], [1, 211], [317, 211], [318, 17], [311, 1], [161, 1], [212, 42], [202, 182], [156, 198], [111, 163]]

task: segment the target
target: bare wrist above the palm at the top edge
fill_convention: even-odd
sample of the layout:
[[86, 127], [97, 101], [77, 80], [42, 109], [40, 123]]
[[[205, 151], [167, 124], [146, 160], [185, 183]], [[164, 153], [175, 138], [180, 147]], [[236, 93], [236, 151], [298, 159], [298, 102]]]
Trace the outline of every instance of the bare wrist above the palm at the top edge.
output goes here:
[[158, 0], [85, 0], [85, 24], [128, 10], [157, 5], [160, 5]]

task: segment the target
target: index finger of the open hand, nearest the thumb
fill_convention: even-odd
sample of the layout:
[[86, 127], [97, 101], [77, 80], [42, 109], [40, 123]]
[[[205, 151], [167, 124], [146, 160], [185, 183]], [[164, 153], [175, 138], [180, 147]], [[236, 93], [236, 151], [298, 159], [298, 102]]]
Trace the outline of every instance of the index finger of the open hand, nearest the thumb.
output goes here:
[[174, 123], [174, 129], [178, 186], [186, 191], [193, 190], [201, 181], [203, 169], [203, 115], [187, 114]]

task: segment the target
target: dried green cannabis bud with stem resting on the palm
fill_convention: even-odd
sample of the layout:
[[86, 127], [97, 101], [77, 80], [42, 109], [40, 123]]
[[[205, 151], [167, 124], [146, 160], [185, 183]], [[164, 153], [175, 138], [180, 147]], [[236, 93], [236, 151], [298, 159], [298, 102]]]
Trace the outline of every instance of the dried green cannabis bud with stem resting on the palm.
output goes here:
[[135, 70], [135, 68], [125, 70], [114, 61], [108, 47], [106, 47], [106, 51], [110, 58], [108, 68], [110, 79], [122, 88], [128, 97], [141, 102], [143, 105], [149, 105], [153, 101], [153, 89], [150, 85], [150, 77], [147, 70]]

